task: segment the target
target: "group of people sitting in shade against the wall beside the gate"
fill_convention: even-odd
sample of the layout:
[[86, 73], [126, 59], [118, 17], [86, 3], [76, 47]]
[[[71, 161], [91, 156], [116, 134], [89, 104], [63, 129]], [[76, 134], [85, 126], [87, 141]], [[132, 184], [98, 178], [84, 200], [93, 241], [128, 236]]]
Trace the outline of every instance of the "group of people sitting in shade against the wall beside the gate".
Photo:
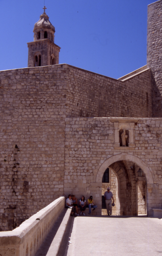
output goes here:
[[[86, 209], [86, 200], [85, 197], [82, 196], [82, 198], [79, 200], [79, 207], [80, 207], [80, 215], [84, 215], [85, 216], [85, 209]], [[68, 198], [66, 199], [66, 207], [67, 208], [72, 208], [71, 210], [71, 216], [74, 216], [74, 214], [76, 216], [78, 215], [78, 208], [77, 208], [77, 198], [74, 195], [69, 195]], [[93, 197], [90, 196], [88, 199], [88, 208], [89, 208], [89, 215], [91, 215], [91, 208], [93, 208], [93, 210], [95, 210], [95, 208], [97, 208], [97, 205], [94, 205], [93, 203]]]

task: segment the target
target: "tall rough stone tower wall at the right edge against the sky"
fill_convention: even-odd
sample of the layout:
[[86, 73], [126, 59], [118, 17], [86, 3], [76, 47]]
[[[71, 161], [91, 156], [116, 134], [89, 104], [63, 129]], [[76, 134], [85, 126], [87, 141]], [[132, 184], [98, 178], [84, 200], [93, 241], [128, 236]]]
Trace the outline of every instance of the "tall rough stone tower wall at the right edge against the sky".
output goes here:
[[162, 117], [162, 1], [148, 6], [147, 67], [152, 71], [153, 117]]

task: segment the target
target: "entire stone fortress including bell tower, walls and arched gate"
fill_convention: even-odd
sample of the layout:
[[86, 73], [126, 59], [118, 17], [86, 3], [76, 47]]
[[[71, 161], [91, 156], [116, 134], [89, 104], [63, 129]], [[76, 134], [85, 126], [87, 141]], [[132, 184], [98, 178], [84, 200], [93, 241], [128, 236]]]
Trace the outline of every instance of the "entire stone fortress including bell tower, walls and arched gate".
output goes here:
[[147, 65], [120, 79], [59, 64], [55, 28], [40, 16], [28, 68], [0, 72], [1, 231], [68, 194], [93, 195], [105, 214], [107, 185], [116, 215], [161, 207], [161, 10], [161, 0], [148, 6]]

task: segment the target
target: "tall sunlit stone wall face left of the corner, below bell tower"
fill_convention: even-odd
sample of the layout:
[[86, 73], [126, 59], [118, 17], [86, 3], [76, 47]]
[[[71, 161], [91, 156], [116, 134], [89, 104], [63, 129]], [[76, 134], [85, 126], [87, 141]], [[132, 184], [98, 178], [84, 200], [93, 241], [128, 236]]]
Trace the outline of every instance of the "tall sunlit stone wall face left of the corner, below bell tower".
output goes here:
[[0, 81], [0, 224], [12, 230], [63, 194], [66, 86], [51, 66]]

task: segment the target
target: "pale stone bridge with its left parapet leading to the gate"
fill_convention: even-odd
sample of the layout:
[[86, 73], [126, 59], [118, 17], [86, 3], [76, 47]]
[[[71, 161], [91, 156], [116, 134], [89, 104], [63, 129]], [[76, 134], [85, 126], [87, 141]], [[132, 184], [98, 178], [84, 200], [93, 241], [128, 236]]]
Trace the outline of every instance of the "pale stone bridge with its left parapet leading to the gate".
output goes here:
[[162, 254], [161, 219], [93, 215], [73, 218], [70, 212], [65, 208], [65, 198], [60, 197], [13, 231], [0, 232], [0, 255]]

